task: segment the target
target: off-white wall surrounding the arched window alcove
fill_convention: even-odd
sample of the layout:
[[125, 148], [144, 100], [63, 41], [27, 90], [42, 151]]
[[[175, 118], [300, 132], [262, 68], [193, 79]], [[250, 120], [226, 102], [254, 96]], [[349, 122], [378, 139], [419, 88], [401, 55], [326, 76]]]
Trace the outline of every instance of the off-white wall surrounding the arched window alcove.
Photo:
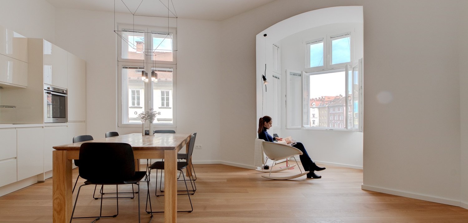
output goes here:
[[[221, 93], [227, 99], [221, 104], [222, 114], [235, 120], [221, 129], [225, 157], [253, 163], [255, 135], [250, 132], [257, 122], [254, 36], [296, 14], [362, 5], [366, 58], [363, 187], [457, 204], [460, 179], [467, 178], [460, 175], [459, 43], [454, 35], [460, 18], [453, 13], [460, 2], [278, 0], [222, 21], [223, 77], [237, 83]], [[232, 93], [235, 89], [239, 90]], [[393, 101], [380, 104], [376, 99], [380, 91], [390, 92]], [[233, 104], [240, 106], [231, 109]], [[434, 111], [436, 104], [450, 114], [445, 109]], [[438, 117], [444, 122], [433, 126], [432, 120]], [[244, 140], [232, 143], [232, 136]]]

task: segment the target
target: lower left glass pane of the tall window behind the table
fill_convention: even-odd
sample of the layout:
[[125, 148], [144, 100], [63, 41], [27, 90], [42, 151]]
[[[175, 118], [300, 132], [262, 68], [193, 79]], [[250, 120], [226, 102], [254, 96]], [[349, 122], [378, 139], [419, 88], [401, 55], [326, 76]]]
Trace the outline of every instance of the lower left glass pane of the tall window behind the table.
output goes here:
[[[141, 123], [138, 114], [145, 111], [145, 81], [141, 80], [141, 68], [122, 68], [123, 89], [122, 98], [126, 98], [123, 106], [124, 123]], [[125, 117], [126, 116], [126, 117]]]

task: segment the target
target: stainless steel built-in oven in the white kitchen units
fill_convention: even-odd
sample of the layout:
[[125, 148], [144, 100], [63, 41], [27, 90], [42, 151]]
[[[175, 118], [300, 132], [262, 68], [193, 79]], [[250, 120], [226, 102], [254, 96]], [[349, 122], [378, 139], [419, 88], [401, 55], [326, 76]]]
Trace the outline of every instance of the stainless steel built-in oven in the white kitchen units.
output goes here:
[[44, 123], [67, 122], [67, 90], [44, 85]]

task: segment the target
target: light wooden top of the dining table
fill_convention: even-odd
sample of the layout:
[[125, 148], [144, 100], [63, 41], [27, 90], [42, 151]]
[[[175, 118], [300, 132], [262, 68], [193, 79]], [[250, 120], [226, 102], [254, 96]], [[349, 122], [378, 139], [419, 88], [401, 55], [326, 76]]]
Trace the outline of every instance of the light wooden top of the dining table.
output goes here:
[[191, 134], [155, 133], [154, 136], [142, 136], [131, 133], [109, 138], [100, 138], [80, 143], [53, 146], [55, 150], [80, 150], [83, 143], [128, 143], [133, 150], [174, 150], [179, 151], [190, 140]]

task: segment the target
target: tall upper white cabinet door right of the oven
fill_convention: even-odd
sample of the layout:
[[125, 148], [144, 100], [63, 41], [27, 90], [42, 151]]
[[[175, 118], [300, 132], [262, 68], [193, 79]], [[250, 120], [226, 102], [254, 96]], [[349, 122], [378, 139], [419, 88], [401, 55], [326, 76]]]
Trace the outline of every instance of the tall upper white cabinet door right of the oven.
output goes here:
[[68, 53], [68, 121], [86, 120], [86, 61]]

